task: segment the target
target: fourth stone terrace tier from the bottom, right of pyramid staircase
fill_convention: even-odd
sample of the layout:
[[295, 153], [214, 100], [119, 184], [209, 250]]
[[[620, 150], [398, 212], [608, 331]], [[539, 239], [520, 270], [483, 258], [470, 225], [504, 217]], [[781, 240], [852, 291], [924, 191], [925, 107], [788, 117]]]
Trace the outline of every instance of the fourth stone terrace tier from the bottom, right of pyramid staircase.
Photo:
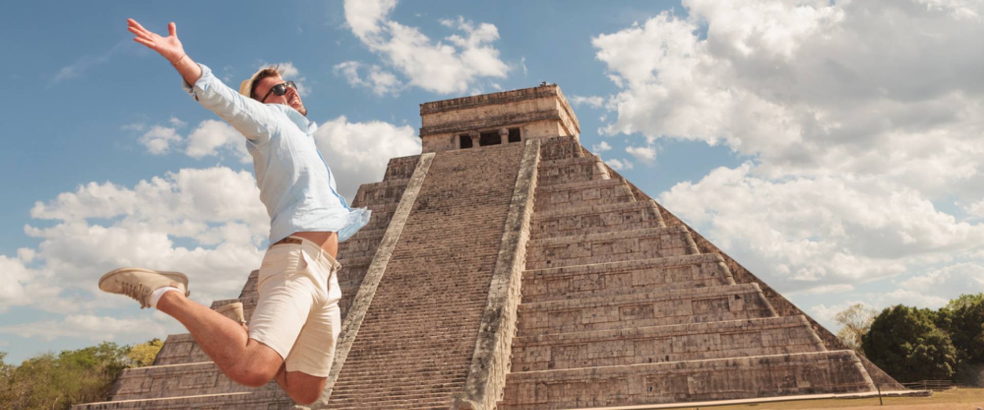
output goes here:
[[718, 254], [523, 271], [523, 303], [735, 284]]

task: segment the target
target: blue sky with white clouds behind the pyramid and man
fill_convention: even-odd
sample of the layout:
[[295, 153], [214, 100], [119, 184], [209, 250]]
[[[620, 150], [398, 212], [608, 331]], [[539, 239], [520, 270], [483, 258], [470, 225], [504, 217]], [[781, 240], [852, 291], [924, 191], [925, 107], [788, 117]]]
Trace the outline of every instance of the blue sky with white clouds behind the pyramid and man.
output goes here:
[[[0, 351], [19, 363], [179, 332], [100, 294], [98, 275], [184, 270], [208, 303], [236, 296], [262, 256], [269, 221], [239, 140], [127, 18], [176, 22], [234, 88], [281, 64], [349, 197], [419, 152], [419, 103], [545, 81], [584, 146], [833, 330], [851, 303], [984, 291], [981, 5], [787, 3], [11, 6]], [[446, 58], [447, 81], [421, 55]]]

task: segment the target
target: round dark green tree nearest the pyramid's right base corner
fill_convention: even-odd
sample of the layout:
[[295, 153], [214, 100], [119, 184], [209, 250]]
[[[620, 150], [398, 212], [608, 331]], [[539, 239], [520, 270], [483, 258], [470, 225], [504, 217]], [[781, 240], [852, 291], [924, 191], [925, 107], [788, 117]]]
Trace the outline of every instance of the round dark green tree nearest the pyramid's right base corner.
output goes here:
[[956, 349], [936, 317], [928, 309], [885, 309], [862, 337], [865, 355], [896, 381], [950, 380]]

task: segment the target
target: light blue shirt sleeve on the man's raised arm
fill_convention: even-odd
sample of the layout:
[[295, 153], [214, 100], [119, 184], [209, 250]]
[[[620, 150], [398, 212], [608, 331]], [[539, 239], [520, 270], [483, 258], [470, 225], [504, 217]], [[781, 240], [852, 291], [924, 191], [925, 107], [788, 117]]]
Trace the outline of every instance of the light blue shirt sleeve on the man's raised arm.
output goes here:
[[260, 145], [270, 141], [281, 124], [277, 116], [283, 113], [222, 84], [204, 64], [199, 64], [199, 67], [202, 68], [202, 77], [195, 82], [195, 86], [182, 81], [181, 87], [249, 139], [250, 143]]

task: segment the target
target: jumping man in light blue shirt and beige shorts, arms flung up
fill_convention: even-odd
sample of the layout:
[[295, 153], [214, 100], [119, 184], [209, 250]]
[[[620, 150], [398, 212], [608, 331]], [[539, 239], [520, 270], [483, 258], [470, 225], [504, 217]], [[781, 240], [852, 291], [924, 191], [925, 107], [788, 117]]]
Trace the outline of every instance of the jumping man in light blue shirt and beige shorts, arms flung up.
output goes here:
[[369, 221], [350, 208], [312, 137], [317, 128], [293, 82], [262, 69], [239, 92], [192, 61], [174, 23], [168, 36], [127, 20], [134, 41], [167, 59], [184, 89], [246, 138], [260, 201], [270, 215], [270, 249], [260, 266], [259, 300], [247, 328], [242, 306], [219, 313], [191, 301], [178, 272], [124, 267], [106, 273], [99, 288], [137, 299], [185, 325], [202, 350], [232, 381], [261, 386], [276, 380], [296, 402], [318, 399], [328, 379], [340, 331], [338, 242]]

